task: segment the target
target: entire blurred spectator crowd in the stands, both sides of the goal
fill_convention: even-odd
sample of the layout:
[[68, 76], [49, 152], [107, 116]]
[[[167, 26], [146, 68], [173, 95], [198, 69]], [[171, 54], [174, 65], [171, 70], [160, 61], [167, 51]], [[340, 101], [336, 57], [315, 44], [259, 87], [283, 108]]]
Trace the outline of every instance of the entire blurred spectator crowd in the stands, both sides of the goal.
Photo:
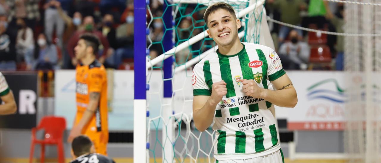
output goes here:
[[[200, 7], [182, 5], [174, 19], [174, 46], [207, 29], [202, 18], [206, 6]], [[275, 20], [343, 32], [341, 3], [266, 0], [265, 8]], [[101, 40], [98, 59], [106, 68], [130, 69], [134, 53], [133, 9], [133, 0], [0, 0], [0, 69], [74, 69], [78, 63], [74, 47], [83, 33], [93, 33]], [[150, 11], [147, 11], [150, 22], [147, 45], [153, 59], [164, 51], [161, 41], [166, 29], [161, 16], [165, 10], [161, 2], [151, 0]], [[343, 69], [343, 37], [272, 22], [269, 27], [284, 69]], [[183, 64], [213, 46], [212, 39], [197, 42], [176, 53], [176, 64]]]

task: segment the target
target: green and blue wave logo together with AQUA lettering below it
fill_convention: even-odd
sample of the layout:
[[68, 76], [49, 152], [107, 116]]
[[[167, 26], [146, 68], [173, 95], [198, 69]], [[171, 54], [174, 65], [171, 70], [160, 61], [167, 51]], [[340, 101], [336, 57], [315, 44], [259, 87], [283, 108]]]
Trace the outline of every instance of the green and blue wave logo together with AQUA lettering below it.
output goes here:
[[335, 118], [344, 116], [343, 104], [347, 101], [347, 95], [336, 79], [321, 80], [309, 86], [307, 99], [311, 101], [306, 112], [307, 117]]

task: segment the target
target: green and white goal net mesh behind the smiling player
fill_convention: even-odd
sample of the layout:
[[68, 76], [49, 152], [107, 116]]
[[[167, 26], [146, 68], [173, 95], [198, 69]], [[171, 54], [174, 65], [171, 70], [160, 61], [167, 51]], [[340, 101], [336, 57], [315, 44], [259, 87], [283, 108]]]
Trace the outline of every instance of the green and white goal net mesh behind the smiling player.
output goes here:
[[[244, 10], [256, 0], [177, 0], [166, 1], [164, 6], [155, 3], [147, 5], [147, 27], [150, 34], [147, 37], [149, 57], [148, 61], [165, 53], [163, 35], [172, 32], [174, 48], [186, 43], [190, 38], [207, 30], [203, 20], [206, 8], [216, 2], [226, 2], [232, 5], [237, 13]], [[157, 3], [157, 2], [156, 2]], [[258, 4], [261, 3], [258, 1]], [[165, 26], [163, 15], [172, 14], [172, 26]], [[239, 32], [242, 42], [259, 43], [261, 22], [263, 19], [263, 3], [250, 13], [238, 15], [242, 22]], [[267, 24], [266, 24], [267, 25]], [[147, 106], [150, 112], [147, 127], [146, 157], [149, 162], [213, 162], [213, 141], [215, 131], [210, 127], [200, 132], [193, 125], [192, 120], [192, 66], [180, 72], [176, 69], [184, 66], [187, 61], [202, 59], [202, 54], [209, 50], [216, 50], [216, 43], [212, 38], [204, 37], [187, 48], [176, 49], [176, 53], [163, 55], [173, 56], [172, 78], [163, 78], [163, 61], [152, 65], [147, 74]], [[150, 63], [148, 63], [150, 64]], [[173, 94], [171, 98], [163, 98], [163, 81], [171, 80]]]

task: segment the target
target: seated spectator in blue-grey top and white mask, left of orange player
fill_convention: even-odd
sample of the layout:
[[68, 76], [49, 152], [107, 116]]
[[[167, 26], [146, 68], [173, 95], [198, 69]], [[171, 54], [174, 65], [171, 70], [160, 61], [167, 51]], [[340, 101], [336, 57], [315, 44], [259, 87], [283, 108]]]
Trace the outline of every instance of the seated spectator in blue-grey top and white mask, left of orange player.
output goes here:
[[41, 33], [37, 38], [37, 45], [28, 51], [25, 56], [27, 69], [29, 70], [52, 70], [57, 69], [58, 51], [57, 46], [48, 42], [46, 35]]

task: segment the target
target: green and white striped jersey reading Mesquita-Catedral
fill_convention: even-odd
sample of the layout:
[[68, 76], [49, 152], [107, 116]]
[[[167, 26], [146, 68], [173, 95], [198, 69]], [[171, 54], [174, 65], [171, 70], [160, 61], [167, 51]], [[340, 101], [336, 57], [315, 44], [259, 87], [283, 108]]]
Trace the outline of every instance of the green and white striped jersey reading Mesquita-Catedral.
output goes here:
[[211, 95], [213, 83], [224, 80], [227, 94], [216, 106], [214, 157], [248, 159], [280, 149], [274, 105], [246, 96], [240, 79], [253, 79], [259, 87], [273, 89], [271, 81], [285, 74], [278, 54], [267, 46], [242, 43], [243, 49], [225, 56], [217, 51], [193, 69], [193, 95]]

